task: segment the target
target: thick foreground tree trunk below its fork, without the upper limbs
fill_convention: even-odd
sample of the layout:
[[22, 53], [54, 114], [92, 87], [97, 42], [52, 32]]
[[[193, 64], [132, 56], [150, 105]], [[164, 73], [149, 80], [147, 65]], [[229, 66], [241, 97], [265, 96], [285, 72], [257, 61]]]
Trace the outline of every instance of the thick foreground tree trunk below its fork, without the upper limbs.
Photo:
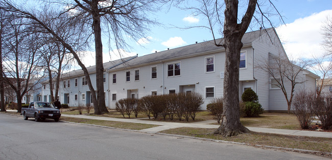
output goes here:
[[237, 34], [239, 33], [225, 33], [227, 36], [225, 36], [224, 111], [222, 123], [214, 131], [214, 134], [222, 134], [223, 136], [233, 136], [249, 131], [240, 122], [239, 62], [243, 44]]

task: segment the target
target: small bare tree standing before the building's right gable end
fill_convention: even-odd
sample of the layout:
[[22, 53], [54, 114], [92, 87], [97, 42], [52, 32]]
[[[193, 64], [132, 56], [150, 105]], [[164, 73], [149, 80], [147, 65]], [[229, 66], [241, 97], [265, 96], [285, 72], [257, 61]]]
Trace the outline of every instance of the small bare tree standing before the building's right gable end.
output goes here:
[[[297, 65], [296, 65], [297, 64]], [[296, 84], [304, 83], [302, 77], [305, 67], [309, 66], [310, 61], [300, 60], [299, 62], [290, 61], [286, 55], [279, 53], [278, 56], [269, 55], [269, 60], [256, 67], [268, 72], [273, 78], [271, 86], [278, 87], [287, 101], [288, 113], [291, 112], [291, 105], [294, 97]]]

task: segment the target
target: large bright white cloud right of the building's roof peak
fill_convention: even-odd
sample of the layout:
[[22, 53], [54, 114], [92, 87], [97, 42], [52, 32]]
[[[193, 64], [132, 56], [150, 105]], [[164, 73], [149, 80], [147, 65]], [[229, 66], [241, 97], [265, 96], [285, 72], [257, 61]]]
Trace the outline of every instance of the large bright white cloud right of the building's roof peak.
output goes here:
[[321, 27], [326, 17], [332, 15], [332, 10], [314, 13], [310, 16], [296, 19], [286, 26], [276, 28], [283, 47], [289, 57], [294, 59], [312, 58], [312, 55], [324, 54], [321, 47], [323, 40]]

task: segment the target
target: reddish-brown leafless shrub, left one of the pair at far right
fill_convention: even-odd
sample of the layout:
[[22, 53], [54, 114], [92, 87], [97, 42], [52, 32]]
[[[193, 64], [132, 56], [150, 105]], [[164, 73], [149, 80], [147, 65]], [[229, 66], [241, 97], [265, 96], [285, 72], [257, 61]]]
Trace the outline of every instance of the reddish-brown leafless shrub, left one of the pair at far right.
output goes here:
[[305, 91], [298, 93], [293, 100], [293, 112], [302, 129], [307, 129], [313, 122], [313, 112], [310, 107], [315, 105], [315, 94], [307, 94]]

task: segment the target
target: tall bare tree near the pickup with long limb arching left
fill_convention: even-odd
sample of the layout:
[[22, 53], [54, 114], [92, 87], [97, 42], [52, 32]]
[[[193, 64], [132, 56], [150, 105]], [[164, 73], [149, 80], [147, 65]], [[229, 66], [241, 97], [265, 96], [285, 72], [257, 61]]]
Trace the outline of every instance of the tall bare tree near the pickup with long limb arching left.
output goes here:
[[[12, 3], [4, 1], [4, 4], [0, 7], [5, 11], [14, 12], [17, 15], [23, 16], [25, 18], [30, 18], [39, 24], [39, 28], [43, 28], [44, 32], [48, 32], [54, 36], [55, 39], [60, 41], [62, 45], [73, 54], [74, 58], [77, 60], [78, 64], [82, 67], [84, 75], [86, 76], [88, 86], [91, 92], [94, 113], [100, 115], [102, 113], [108, 112], [105, 100], [104, 100], [104, 82], [103, 82], [103, 48], [102, 48], [102, 29], [101, 24], [105, 25], [106, 31], [109, 39], [114, 41], [115, 48], [120, 50], [123, 48], [130, 48], [125, 37], [131, 37], [133, 40], [138, 41], [139, 38], [145, 37], [147, 31], [149, 31], [149, 26], [157, 24], [156, 21], [150, 20], [148, 17], [149, 12], [157, 11], [159, 3], [167, 2], [163, 0], [154, 1], [143, 1], [143, 0], [133, 0], [133, 1], [78, 1], [74, 0], [72, 2], [58, 1], [63, 7], [67, 8], [64, 11], [69, 17], [65, 22], [70, 23], [71, 21], [80, 21], [82, 29], [88, 35], [94, 35], [94, 50], [96, 51], [96, 82], [97, 82], [97, 92], [98, 97], [96, 98], [96, 93], [92, 87], [89, 74], [86, 67], [79, 59], [77, 52], [73, 49], [73, 45], [70, 45], [65, 39], [59, 36], [54, 28], [39, 19], [35, 14], [29, 13], [18, 9]], [[61, 8], [61, 7], [60, 7]], [[69, 19], [69, 20], [68, 20]], [[63, 22], [63, 23], [65, 23]], [[74, 27], [74, 26], [73, 26]], [[128, 36], [124, 36], [128, 35]], [[98, 101], [97, 101], [98, 100]]]

